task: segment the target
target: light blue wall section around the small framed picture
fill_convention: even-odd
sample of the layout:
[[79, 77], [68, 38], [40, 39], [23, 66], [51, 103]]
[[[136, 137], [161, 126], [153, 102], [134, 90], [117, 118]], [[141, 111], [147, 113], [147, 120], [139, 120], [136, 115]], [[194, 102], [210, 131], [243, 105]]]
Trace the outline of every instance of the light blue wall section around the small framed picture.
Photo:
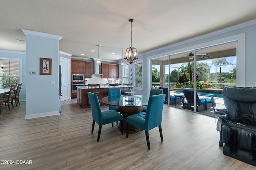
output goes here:
[[[26, 116], [25, 119], [58, 115], [58, 35], [23, 30], [26, 34]], [[52, 59], [52, 75], [40, 75], [40, 58]], [[31, 75], [30, 72], [37, 72]], [[55, 84], [51, 84], [55, 81]]]

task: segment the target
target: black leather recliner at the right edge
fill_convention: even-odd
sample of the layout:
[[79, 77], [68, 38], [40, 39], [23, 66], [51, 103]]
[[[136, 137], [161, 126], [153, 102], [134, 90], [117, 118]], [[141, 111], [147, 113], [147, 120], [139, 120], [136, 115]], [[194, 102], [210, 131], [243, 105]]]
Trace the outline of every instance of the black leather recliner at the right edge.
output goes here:
[[225, 87], [216, 109], [223, 154], [256, 166], [256, 87]]

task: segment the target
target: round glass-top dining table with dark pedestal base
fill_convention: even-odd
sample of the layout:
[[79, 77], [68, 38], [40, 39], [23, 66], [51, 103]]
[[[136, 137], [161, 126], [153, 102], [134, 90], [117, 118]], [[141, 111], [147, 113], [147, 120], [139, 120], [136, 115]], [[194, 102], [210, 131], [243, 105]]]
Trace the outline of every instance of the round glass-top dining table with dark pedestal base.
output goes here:
[[[123, 115], [124, 133], [126, 133], [126, 117], [142, 112], [142, 106], [148, 105], [149, 96], [142, 95], [121, 95], [107, 96], [100, 99], [100, 102], [108, 105], [117, 106], [120, 113]], [[118, 129], [121, 130], [119, 124]], [[129, 126], [129, 133], [138, 133], [142, 131], [140, 128], [133, 125]]]

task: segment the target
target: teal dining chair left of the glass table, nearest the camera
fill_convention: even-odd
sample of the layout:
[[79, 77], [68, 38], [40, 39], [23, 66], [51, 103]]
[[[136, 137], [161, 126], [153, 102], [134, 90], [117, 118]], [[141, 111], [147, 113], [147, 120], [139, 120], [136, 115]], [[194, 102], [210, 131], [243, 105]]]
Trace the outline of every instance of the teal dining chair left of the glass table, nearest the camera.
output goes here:
[[114, 110], [101, 111], [98, 95], [92, 92], [88, 92], [87, 95], [89, 97], [90, 104], [92, 107], [92, 133], [94, 130], [95, 122], [99, 125], [97, 142], [100, 140], [102, 125], [113, 123], [115, 121], [120, 121], [121, 133], [123, 135], [123, 116]]

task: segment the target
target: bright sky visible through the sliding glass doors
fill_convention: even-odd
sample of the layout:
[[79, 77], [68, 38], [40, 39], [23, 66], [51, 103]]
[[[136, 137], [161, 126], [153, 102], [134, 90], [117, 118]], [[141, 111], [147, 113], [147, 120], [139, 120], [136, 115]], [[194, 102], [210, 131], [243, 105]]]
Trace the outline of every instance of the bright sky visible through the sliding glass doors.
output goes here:
[[[236, 56], [233, 57], [225, 57], [226, 60], [229, 63], [232, 63], [232, 65], [228, 65], [228, 66], [224, 66], [221, 68], [221, 72], [230, 72], [230, 70], [232, 70], [235, 66], [236, 66]], [[210, 66], [210, 73], [215, 73], [215, 66], [214, 64], [212, 64], [212, 59], [208, 59], [208, 60], [203, 60], [203, 61], [199, 61], [200, 63], [208, 63], [208, 65]], [[181, 66], [184, 63], [178, 63], [178, 64], [171, 64], [171, 71], [176, 69]], [[159, 65], [153, 65], [153, 67], [157, 68], [158, 71], [160, 71], [160, 66]], [[166, 72], [165, 74], [169, 74], [169, 70], [168, 70], [168, 65], [166, 66]], [[220, 68], [217, 67], [217, 72], [220, 72]]]

